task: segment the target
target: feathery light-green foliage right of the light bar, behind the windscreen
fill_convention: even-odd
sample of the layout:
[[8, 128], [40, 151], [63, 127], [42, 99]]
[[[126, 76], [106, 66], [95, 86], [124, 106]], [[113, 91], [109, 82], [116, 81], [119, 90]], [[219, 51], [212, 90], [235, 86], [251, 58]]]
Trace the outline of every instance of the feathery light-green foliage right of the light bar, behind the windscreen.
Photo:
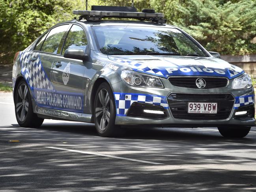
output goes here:
[[[165, 6], [163, 6], [165, 5]], [[151, 0], [168, 22], [185, 30], [207, 50], [221, 54], [256, 53], [256, 1]]]

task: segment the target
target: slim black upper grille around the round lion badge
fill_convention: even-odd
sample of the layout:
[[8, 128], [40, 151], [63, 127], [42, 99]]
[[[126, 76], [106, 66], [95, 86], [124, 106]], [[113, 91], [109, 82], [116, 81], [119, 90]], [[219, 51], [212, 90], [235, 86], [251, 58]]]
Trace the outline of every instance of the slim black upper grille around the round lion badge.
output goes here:
[[206, 81], [206, 87], [204, 89], [224, 88], [228, 85], [228, 79], [225, 77], [178, 76], [169, 77], [168, 80], [173, 86], [176, 87], [199, 89], [196, 86], [196, 80], [198, 78], [203, 78]]

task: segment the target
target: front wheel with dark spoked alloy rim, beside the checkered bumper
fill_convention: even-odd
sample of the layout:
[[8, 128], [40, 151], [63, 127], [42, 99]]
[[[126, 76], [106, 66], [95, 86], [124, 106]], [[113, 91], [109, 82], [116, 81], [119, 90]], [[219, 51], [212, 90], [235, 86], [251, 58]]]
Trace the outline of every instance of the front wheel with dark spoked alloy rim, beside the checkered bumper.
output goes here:
[[96, 92], [93, 108], [94, 123], [100, 136], [109, 137], [118, 134], [115, 125], [116, 105], [110, 86], [104, 82]]

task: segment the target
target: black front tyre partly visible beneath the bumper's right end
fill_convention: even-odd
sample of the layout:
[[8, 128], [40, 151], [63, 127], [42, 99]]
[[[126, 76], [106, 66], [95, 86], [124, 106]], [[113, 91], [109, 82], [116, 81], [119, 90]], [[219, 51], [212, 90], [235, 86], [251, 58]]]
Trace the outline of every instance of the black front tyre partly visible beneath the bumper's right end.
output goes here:
[[223, 137], [242, 138], [250, 132], [250, 127], [218, 127]]

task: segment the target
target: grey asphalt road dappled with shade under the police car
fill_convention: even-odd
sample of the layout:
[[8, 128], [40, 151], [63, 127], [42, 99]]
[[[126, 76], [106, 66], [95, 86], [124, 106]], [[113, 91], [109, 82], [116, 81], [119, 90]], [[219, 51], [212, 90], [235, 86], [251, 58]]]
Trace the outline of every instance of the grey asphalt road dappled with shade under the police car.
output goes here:
[[125, 131], [101, 138], [93, 124], [54, 120], [21, 128], [11, 93], [0, 93], [0, 192], [256, 191], [255, 127], [238, 140], [217, 128]]

